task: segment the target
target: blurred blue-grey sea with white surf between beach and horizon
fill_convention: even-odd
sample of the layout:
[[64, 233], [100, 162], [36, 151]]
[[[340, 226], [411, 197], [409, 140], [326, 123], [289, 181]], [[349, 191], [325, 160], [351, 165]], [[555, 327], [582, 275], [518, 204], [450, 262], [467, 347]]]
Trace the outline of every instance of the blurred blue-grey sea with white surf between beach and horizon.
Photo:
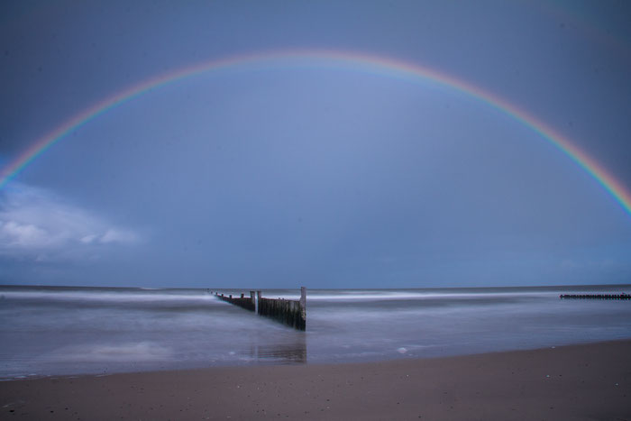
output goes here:
[[[206, 289], [0, 287], [0, 379], [362, 362], [631, 338], [631, 301], [559, 299], [572, 292], [631, 293], [631, 286], [312, 289], [306, 332]], [[263, 296], [297, 299], [299, 291]]]

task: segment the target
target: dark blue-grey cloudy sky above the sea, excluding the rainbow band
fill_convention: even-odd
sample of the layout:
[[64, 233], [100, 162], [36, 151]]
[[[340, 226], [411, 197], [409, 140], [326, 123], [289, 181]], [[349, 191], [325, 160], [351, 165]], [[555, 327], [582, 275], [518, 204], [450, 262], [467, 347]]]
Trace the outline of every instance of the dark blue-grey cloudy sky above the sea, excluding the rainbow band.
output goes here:
[[[425, 66], [526, 110], [631, 189], [620, 1], [4, 1], [0, 169], [91, 105], [282, 50]], [[0, 282], [402, 288], [631, 283], [631, 215], [525, 124], [326, 59], [159, 87], [0, 188]]]

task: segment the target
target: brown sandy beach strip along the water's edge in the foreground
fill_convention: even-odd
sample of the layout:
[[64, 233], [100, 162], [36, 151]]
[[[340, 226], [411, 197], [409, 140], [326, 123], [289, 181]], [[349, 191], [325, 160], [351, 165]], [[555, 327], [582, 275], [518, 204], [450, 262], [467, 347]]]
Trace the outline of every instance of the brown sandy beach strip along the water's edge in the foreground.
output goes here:
[[0, 382], [0, 419], [629, 420], [631, 340]]

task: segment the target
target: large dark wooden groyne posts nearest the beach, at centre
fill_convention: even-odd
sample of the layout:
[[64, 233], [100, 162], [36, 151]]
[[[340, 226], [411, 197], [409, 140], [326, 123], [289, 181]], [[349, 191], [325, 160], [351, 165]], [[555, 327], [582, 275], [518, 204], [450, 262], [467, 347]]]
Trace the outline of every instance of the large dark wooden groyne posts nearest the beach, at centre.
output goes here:
[[[212, 291], [211, 291], [212, 293]], [[291, 326], [298, 330], [306, 330], [306, 288], [300, 288], [300, 299], [283, 299], [283, 298], [263, 298], [262, 291], [250, 291], [250, 297], [233, 297], [229, 295], [215, 292], [215, 297], [253, 311], [259, 316], [267, 316], [278, 320], [280, 323]]]

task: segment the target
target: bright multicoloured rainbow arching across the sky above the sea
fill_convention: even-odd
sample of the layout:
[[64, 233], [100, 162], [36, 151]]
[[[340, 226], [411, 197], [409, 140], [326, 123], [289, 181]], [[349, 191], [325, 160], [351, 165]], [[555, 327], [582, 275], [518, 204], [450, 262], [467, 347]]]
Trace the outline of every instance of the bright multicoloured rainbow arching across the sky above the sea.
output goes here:
[[29, 149], [23, 151], [22, 154], [0, 171], [0, 188], [4, 188], [10, 179], [19, 174], [22, 169], [28, 166], [44, 151], [48, 150], [56, 142], [62, 140], [68, 133], [89, 123], [114, 107], [122, 105], [137, 96], [142, 96], [153, 88], [162, 87], [183, 78], [189, 78], [206, 72], [217, 72], [265, 64], [288, 66], [288, 64], [291, 63], [299, 63], [301, 60], [317, 60], [318, 62], [325, 63], [327, 66], [340, 66], [353, 70], [359, 69], [394, 78], [429, 80], [438, 85], [450, 87], [469, 96], [473, 96], [482, 103], [497, 109], [501, 113], [508, 114], [514, 120], [517, 120], [517, 122], [526, 125], [526, 127], [538, 133], [544, 140], [550, 142], [559, 151], [562, 151], [579, 165], [581, 169], [584, 169], [592, 178], [596, 179], [600, 186], [605, 188], [608, 194], [614, 197], [617, 203], [623, 207], [626, 213], [631, 215], [631, 194], [622, 183], [609, 174], [607, 169], [599, 165], [596, 160], [590, 158], [587, 153], [581, 151], [581, 149], [569, 139], [562, 136], [561, 133], [556, 132], [552, 127], [535, 118], [534, 115], [526, 113], [526, 111], [520, 109], [517, 105], [510, 104], [508, 101], [480, 87], [471, 85], [462, 79], [454, 78], [453, 76], [424, 66], [368, 54], [331, 50], [289, 50], [233, 56], [225, 59], [202, 62], [144, 80], [138, 85], [128, 87], [90, 106], [83, 112], [72, 116], [66, 123], [60, 124], [50, 133], [43, 135], [37, 142], [34, 142]]

